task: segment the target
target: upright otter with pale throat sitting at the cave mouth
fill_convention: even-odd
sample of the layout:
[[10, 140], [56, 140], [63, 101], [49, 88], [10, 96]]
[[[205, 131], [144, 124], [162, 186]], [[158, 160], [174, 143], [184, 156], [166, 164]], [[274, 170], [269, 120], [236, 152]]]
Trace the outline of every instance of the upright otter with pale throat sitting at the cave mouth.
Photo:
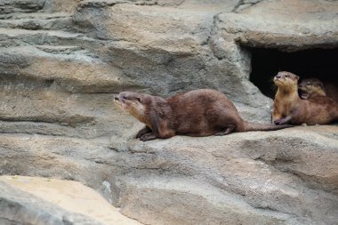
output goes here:
[[298, 79], [290, 72], [279, 72], [274, 78], [278, 91], [274, 100], [272, 122], [276, 125], [326, 125], [338, 119], [338, 105], [334, 100], [318, 96], [302, 100], [298, 96]]

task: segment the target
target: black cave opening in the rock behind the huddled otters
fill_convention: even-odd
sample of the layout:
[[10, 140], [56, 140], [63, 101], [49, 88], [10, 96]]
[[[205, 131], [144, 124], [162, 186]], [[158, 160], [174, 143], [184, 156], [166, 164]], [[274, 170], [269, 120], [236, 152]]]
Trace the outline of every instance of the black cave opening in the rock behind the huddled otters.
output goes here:
[[302, 78], [317, 77], [338, 85], [338, 48], [282, 52], [278, 49], [248, 48], [252, 54], [250, 81], [261, 92], [274, 98], [272, 81], [278, 71], [290, 71]]

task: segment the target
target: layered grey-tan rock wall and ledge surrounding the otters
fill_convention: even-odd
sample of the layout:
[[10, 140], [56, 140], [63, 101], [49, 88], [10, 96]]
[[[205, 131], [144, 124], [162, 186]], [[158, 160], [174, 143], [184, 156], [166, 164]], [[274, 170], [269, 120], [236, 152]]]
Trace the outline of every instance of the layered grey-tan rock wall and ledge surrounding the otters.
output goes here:
[[[112, 99], [208, 87], [270, 123], [247, 47], [337, 48], [337, 12], [329, 0], [0, 0], [0, 174], [80, 181], [144, 224], [336, 224], [336, 125], [141, 142]], [[0, 189], [0, 223], [22, 222], [28, 195]], [[38, 205], [24, 224], [40, 224]], [[41, 224], [93, 224], [77, 219]]]

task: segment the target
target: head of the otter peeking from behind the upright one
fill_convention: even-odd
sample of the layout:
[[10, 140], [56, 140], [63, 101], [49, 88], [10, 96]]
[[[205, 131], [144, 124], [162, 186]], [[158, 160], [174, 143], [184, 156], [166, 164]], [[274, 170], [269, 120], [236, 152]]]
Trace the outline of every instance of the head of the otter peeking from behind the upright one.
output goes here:
[[303, 79], [302, 82], [298, 84], [298, 89], [301, 91], [303, 100], [314, 96], [326, 96], [323, 83], [316, 78]]

